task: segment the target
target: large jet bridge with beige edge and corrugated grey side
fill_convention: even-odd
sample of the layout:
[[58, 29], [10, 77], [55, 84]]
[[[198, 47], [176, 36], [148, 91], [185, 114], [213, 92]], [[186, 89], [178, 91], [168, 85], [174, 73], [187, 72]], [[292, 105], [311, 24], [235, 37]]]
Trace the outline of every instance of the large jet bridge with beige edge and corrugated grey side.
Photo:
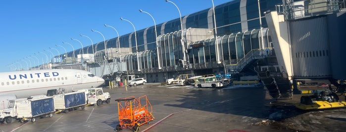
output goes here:
[[[282, 73], [279, 76], [292, 80], [294, 93], [301, 93], [297, 80], [323, 79], [338, 87], [334, 92], [345, 92], [346, 14], [340, 12], [339, 7], [345, 3], [340, 1], [343, 0], [283, 0], [282, 5], [276, 5], [276, 11], [264, 12]], [[269, 84], [277, 88], [272, 97], [286, 95], [280, 93], [286, 86], [280, 87], [277, 76], [268, 72], [262, 72], [260, 77], [274, 78], [266, 82], [267, 89]]]

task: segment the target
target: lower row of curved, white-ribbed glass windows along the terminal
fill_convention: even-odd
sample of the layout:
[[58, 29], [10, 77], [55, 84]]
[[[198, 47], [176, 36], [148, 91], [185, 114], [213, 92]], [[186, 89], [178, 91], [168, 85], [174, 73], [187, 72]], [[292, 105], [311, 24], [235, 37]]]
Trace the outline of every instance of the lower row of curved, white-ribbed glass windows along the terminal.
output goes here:
[[[177, 33], [177, 32], [174, 32]], [[181, 46], [173, 45], [177, 39], [174, 33], [167, 33], [160, 35], [159, 41], [159, 55], [163, 68], [180, 65], [176, 58], [179, 58], [177, 51]], [[270, 45], [270, 36], [268, 29], [263, 29], [263, 42], [264, 48], [272, 48]], [[262, 47], [260, 44], [261, 33], [260, 30], [247, 31], [245, 33], [236, 33], [230, 35], [224, 35], [218, 38], [219, 52], [222, 53], [221, 61], [226, 64], [237, 63], [238, 60], [244, 58], [252, 50], [259, 50]], [[189, 64], [204, 64], [216, 62], [216, 46], [215, 38], [200, 40], [189, 44], [187, 50], [188, 63]], [[178, 53], [178, 54], [176, 54]], [[157, 68], [157, 56], [153, 50], [147, 50], [139, 52], [140, 69], [152, 69]], [[138, 70], [137, 68], [137, 55], [136, 53], [123, 56], [122, 60], [126, 62], [128, 70]]]

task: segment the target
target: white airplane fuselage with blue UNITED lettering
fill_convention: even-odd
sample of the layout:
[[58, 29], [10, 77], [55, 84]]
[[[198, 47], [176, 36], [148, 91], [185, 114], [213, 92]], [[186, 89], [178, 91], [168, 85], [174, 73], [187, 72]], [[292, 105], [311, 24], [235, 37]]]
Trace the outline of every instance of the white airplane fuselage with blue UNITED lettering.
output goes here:
[[12, 94], [17, 98], [47, 95], [48, 90], [72, 90], [99, 87], [104, 79], [77, 69], [43, 69], [0, 72], [0, 95]]

